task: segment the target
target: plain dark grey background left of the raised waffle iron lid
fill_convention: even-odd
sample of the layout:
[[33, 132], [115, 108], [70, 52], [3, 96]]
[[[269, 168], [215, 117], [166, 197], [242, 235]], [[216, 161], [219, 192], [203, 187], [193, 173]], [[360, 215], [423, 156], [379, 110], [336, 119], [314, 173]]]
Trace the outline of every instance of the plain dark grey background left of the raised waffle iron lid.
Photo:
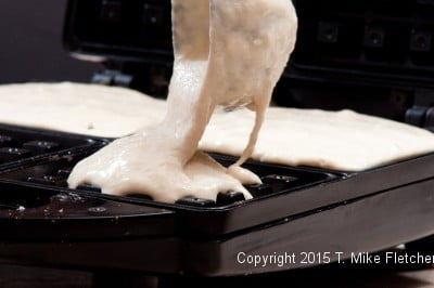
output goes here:
[[63, 49], [66, 0], [2, 1], [0, 83], [71, 80], [88, 82], [100, 64], [74, 60]]

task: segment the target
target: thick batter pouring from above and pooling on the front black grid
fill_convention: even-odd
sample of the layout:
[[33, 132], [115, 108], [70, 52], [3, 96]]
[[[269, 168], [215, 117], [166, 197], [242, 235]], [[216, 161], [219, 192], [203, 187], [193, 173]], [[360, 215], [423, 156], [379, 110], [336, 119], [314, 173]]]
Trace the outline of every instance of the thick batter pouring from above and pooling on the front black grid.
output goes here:
[[[166, 117], [80, 161], [69, 186], [92, 184], [106, 194], [145, 194], [166, 202], [216, 199], [229, 191], [251, 198], [243, 184], [260, 180], [240, 166], [253, 153], [296, 26], [289, 0], [173, 0], [175, 63]], [[197, 150], [218, 105], [256, 113], [247, 146], [229, 169]]]

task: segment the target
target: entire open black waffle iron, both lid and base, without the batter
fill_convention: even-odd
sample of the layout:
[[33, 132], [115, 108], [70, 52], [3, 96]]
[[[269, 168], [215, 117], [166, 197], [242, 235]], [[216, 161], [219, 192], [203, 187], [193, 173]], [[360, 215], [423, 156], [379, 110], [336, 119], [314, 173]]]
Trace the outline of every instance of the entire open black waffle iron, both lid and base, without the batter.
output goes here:
[[[434, 2], [299, 0], [282, 106], [353, 108], [431, 129]], [[71, 0], [64, 42], [104, 62], [92, 81], [167, 94], [169, 0]], [[217, 201], [68, 189], [74, 165], [111, 140], [0, 127], [0, 258], [18, 264], [232, 276], [308, 267], [434, 233], [434, 154], [367, 171], [248, 161], [264, 184]], [[321, 143], [317, 143], [321, 145]], [[233, 157], [213, 155], [228, 166]], [[170, 175], [167, 175], [170, 178]], [[247, 256], [295, 254], [255, 266]]]

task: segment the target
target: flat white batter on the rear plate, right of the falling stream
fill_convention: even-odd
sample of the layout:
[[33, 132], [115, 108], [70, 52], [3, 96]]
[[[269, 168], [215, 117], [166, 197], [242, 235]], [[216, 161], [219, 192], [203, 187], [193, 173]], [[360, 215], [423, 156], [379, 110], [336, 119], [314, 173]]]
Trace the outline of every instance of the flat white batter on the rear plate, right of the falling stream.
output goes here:
[[[200, 148], [240, 155], [248, 110], [219, 112]], [[434, 134], [409, 125], [352, 110], [271, 107], [252, 158], [288, 166], [361, 171], [434, 152]]]

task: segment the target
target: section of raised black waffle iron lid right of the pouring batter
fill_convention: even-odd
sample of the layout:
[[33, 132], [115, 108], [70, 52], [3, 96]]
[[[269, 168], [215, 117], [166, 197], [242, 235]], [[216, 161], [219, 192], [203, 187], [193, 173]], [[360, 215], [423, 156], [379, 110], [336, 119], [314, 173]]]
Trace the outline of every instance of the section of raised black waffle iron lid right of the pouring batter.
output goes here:
[[296, 6], [296, 67], [432, 81], [432, 1], [297, 0]]

